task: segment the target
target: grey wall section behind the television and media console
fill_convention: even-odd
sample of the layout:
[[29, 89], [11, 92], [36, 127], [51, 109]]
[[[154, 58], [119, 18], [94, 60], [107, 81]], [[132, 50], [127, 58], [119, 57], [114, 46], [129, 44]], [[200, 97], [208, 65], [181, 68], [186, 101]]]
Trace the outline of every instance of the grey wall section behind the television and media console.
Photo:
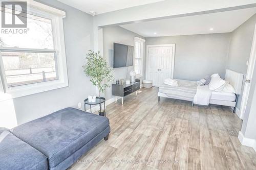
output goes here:
[[[134, 37], [140, 37], [145, 39], [144, 37], [134, 32], [125, 30], [118, 26], [103, 28], [103, 56], [110, 62], [110, 65], [112, 65], [113, 59], [113, 42], [134, 46]], [[143, 69], [145, 69], [145, 66], [143, 67]], [[131, 70], [134, 70], [133, 66], [128, 67], [128, 71], [126, 71], [126, 67], [115, 68], [113, 71], [114, 77], [115, 79], [125, 80], [127, 72], [127, 78], [130, 78], [129, 74]], [[143, 77], [140, 78], [140, 80], [142, 83]], [[107, 88], [105, 91], [105, 98], [111, 99], [112, 97], [112, 87]]]

